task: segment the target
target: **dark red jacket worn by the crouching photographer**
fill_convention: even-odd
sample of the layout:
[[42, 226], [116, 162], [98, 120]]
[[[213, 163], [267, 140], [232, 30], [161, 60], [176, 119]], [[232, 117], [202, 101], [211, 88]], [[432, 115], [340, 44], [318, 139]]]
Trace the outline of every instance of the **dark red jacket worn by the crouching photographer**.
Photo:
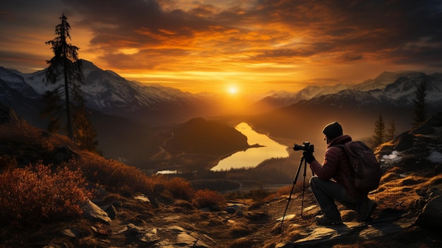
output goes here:
[[315, 160], [310, 164], [310, 168], [320, 179], [333, 179], [345, 187], [350, 196], [357, 196], [358, 194], [353, 182], [353, 168], [352, 165], [350, 165], [350, 160], [343, 148], [335, 146], [348, 141], [352, 141], [352, 137], [348, 135], [333, 138], [333, 140], [328, 143], [323, 164], [321, 165]]

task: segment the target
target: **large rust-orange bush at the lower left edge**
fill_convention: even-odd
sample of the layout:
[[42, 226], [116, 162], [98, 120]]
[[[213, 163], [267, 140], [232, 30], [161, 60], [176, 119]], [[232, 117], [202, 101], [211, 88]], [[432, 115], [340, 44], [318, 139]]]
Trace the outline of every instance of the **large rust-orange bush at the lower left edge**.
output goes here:
[[37, 223], [80, 215], [92, 195], [79, 170], [52, 172], [47, 165], [16, 168], [0, 174], [0, 218]]

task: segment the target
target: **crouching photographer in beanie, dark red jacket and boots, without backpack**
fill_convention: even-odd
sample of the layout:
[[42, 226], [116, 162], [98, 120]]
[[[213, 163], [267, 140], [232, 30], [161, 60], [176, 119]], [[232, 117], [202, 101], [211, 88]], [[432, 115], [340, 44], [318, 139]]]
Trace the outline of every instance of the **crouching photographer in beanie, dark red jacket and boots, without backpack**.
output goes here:
[[310, 179], [311, 191], [323, 211], [315, 216], [318, 225], [341, 225], [341, 215], [335, 201], [357, 211], [359, 221], [366, 221], [373, 214], [376, 203], [367, 194], [354, 188], [353, 168], [345, 150], [336, 145], [352, 141], [348, 135], [342, 135], [342, 126], [338, 122], [328, 124], [323, 129], [327, 150], [321, 165], [311, 150], [304, 151], [304, 159], [316, 175]]

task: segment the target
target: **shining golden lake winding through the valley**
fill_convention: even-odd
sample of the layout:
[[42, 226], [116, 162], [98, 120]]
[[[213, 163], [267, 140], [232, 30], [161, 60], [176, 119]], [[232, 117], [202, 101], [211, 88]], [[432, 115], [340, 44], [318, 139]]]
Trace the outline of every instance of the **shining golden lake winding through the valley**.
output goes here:
[[247, 143], [249, 143], [250, 146], [258, 143], [263, 147], [249, 148], [233, 153], [229, 157], [221, 160], [220, 163], [210, 170], [220, 171], [230, 170], [232, 168], [251, 168], [258, 166], [264, 160], [270, 158], [287, 158], [289, 156], [287, 146], [277, 143], [265, 134], [258, 134], [256, 131], [253, 131], [249, 124], [241, 122], [235, 126], [235, 129], [247, 136]]

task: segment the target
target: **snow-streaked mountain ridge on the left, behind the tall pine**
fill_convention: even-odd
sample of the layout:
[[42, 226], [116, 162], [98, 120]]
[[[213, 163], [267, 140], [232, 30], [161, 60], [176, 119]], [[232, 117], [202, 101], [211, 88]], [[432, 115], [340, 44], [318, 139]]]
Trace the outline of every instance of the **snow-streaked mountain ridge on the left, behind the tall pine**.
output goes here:
[[[104, 114], [129, 117], [146, 122], [182, 122], [212, 112], [207, 98], [161, 85], [143, 85], [127, 81], [113, 71], [104, 71], [90, 61], [82, 61], [85, 82], [83, 92], [86, 106]], [[28, 98], [39, 98], [56, 85], [44, 81], [45, 70], [20, 73], [3, 69], [0, 78], [11, 88]], [[7, 75], [7, 76], [6, 76]], [[31, 92], [32, 93], [28, 93]]]

